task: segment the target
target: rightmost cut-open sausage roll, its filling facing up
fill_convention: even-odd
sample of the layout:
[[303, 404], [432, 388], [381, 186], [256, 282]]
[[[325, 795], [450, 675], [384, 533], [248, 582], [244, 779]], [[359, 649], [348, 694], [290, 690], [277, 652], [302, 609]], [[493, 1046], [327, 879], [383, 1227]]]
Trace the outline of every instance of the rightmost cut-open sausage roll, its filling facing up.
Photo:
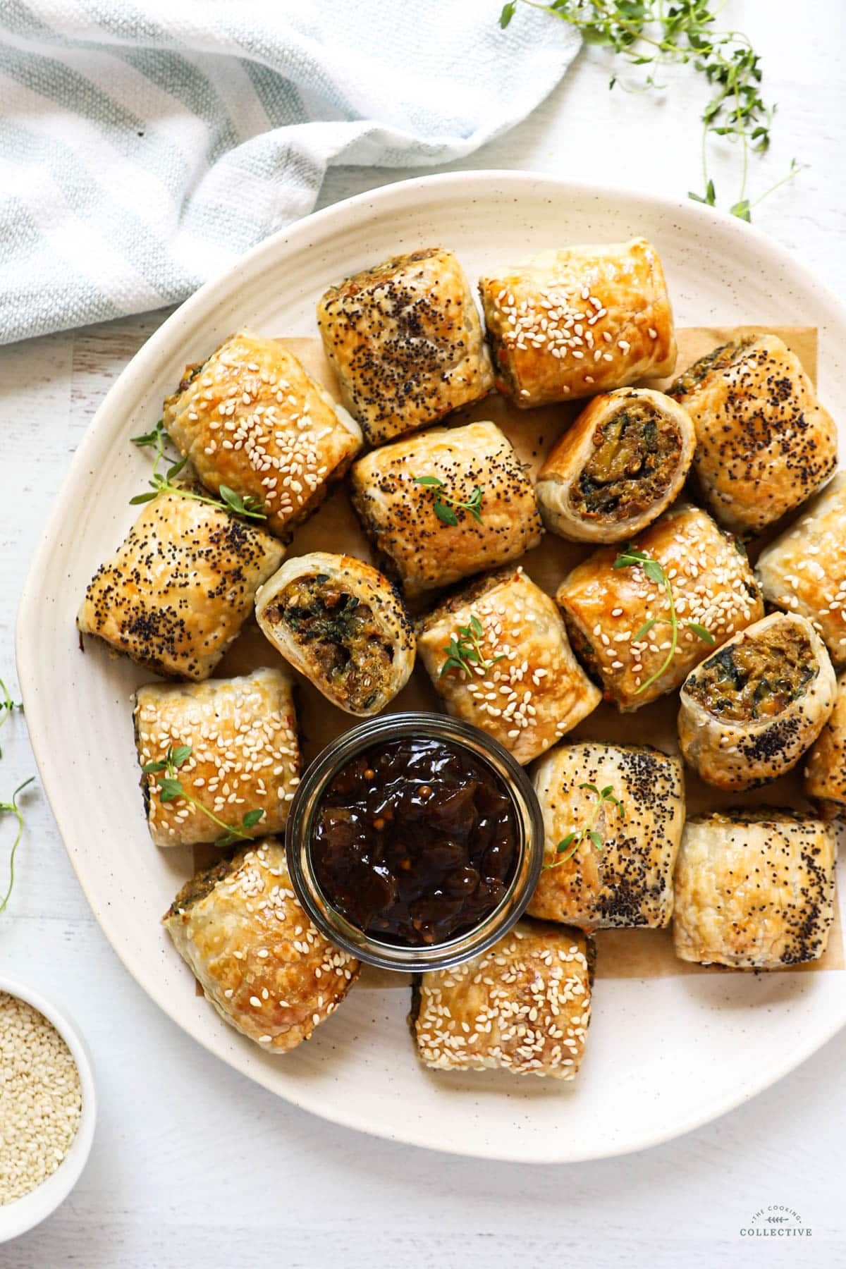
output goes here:
[[720, 789], [775, 780], [814, 742], [836, 689], [826, 645], [810, 622], [772, 613], [685, 679], [679, 711], [685, 760]]

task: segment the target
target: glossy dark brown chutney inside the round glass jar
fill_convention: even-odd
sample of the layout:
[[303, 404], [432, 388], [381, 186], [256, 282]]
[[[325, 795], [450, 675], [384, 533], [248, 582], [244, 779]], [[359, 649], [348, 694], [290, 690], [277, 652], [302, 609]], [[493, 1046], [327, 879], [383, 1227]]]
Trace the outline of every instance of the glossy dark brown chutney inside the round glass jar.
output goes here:
[[501, 779], [435, 739], [353, 758], [317, 806], [312, 862], [329, 902], [375, 938], [444, 943], [505, 897], [517, 822]]

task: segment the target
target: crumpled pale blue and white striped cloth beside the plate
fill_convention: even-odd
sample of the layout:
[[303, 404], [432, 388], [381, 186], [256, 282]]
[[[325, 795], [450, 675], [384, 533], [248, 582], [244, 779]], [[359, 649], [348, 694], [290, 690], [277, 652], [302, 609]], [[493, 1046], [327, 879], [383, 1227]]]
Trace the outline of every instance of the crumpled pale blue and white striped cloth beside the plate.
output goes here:
[[331, 164], [460, 159], [577, 37], [500, 0], [0, 0], [0, 343], [183, 299]]

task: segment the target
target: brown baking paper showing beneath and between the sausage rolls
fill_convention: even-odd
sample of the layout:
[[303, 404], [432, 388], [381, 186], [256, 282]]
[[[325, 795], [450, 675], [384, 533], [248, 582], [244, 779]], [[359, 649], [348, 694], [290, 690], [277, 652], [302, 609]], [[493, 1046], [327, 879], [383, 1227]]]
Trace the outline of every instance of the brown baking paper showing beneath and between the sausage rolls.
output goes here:
[[[769, 331], [779, 335], [799, 357], [810, 378], [817, 381], [817, 331], [808, 326], [708, 326], [689, 327], [676, 331], [679, 340], [680, 373], [691, 362], [718, 344], [738, 339], [745, 334]], [[323, 383], [340, 400], [337, 381], [330, 367], [318, 339], [287, 339], [288, 348], [299, 358], [307, 371]], [[652, 387], [666, 387], [670, 381], [653, 381]], [[537, 473], [540, 462], [572, 423], [583, 401], [559, 406], [543, 406], [538, 410], [516, 410], [504, 396], [490, 396], [468, 410], [457, 411], [450, 416], [450, 424], [459, 425], [474, 420], [492, 420], [506, 434], [521, 461]], [[590, 553], [590, 547], [575, 542], [564, 542], [552, 533], [530, 551], [520, 562], [533, 580], [549, 594], [554, 594], [564, 575], [580, 560]], [[361, 527], [353, 511], [346, 489], [336, 489], [323, 503], [320, 511], [303, 524], [288, 547], [287, 557], [306, 555], [308, 551], [332, 551], [372, 560], [372, 552]], [[431, 603], [424, 600], [424, 607]], [[237, 640], [218, 670], [221, 676], [244, 674], [259, 665], [277, 665], [282, 659], [268, 643], [254, 624]], [[298, 694], [298, 720], [302, 730], [303, 763], [309, 763], [326, 745], [341, 732], [348, 731], [358, 720], [331, 706], [311, 683], [298, 675], [301, 690]], [[427, 674], [421, 665], [415, 671], [407, 687], [388, 706], [391, 712], [407, 709], [441, 711], [443, 704], [436, 695]], [[676, 735], [677, 694], [666, 695], [644, 706], [634, 714], [620, 714], [613, 706], [600, 704], [578, 727], [568, 733], [567, 740], [608, 740], [619, 744], [648, 742], [657, 745], [668, 754], [679, 753]], [[808, 807], [802, 796], [802, 766], [783, 777], [764, 789], [748, 794], [726, 794], [703, 784], [693, 772], [685, 772], [687, 788], [687, 811], [714, 810], [723, 806], [742, 806], [766, 802], [772, 806]], [[199, 848], [195, 864], [204, 865], [217, 858], [214, 848]], [[835, 905], [837, 912], [837, 905]], [[649, 978], [666, 975], [713, 973], [738, 971], [704, 968], [679, 961], [672, 950], [670, 930], [601, 930], [596, 935], [597, 976], [600, 978]], [[821, 961], [798, 966], [797, 972], [813, 970], [842, 970], [843, 943], [840, 916], [828, 939], [828, 950]], [[793, 972], [793, 971], [791, 971]], [[365, 981], [370, 986], [403, 986], [405, 975], [388, 972], [368, 972]]]

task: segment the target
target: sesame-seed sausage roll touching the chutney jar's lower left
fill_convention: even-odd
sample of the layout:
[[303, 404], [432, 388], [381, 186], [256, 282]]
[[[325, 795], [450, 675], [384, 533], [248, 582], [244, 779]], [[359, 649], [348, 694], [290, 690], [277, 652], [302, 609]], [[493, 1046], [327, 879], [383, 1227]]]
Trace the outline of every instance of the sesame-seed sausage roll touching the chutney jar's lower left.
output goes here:
[[359, 975], [299, 906], [274, 838], [193, 877], [164, 925], [221, 1018], [271, 1053], [308, 1039]]

